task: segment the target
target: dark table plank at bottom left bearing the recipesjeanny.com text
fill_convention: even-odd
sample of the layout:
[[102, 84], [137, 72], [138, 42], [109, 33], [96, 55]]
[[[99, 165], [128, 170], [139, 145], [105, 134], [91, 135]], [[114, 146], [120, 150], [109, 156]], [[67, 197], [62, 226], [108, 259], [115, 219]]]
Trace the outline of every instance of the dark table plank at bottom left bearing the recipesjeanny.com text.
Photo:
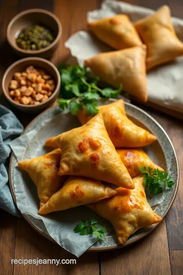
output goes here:
[[[17, 222], [14, 257], [15, 259], [76, 259], [77, 261], [77, 264], [59, 264], [57, 266], [54, 264], [14, 264], [14, 275], [98, 275], [99, 273], [97, 253], [93, 254], [92, 257], [89, 257], [87, 253], [77, 259], [71, 253], [60, 248], [59, 245], [52, 243], [38, 234], [23, 218], [18, 219]], [[5, 274], [6, 273], [4, 273], [4, 275]]]

